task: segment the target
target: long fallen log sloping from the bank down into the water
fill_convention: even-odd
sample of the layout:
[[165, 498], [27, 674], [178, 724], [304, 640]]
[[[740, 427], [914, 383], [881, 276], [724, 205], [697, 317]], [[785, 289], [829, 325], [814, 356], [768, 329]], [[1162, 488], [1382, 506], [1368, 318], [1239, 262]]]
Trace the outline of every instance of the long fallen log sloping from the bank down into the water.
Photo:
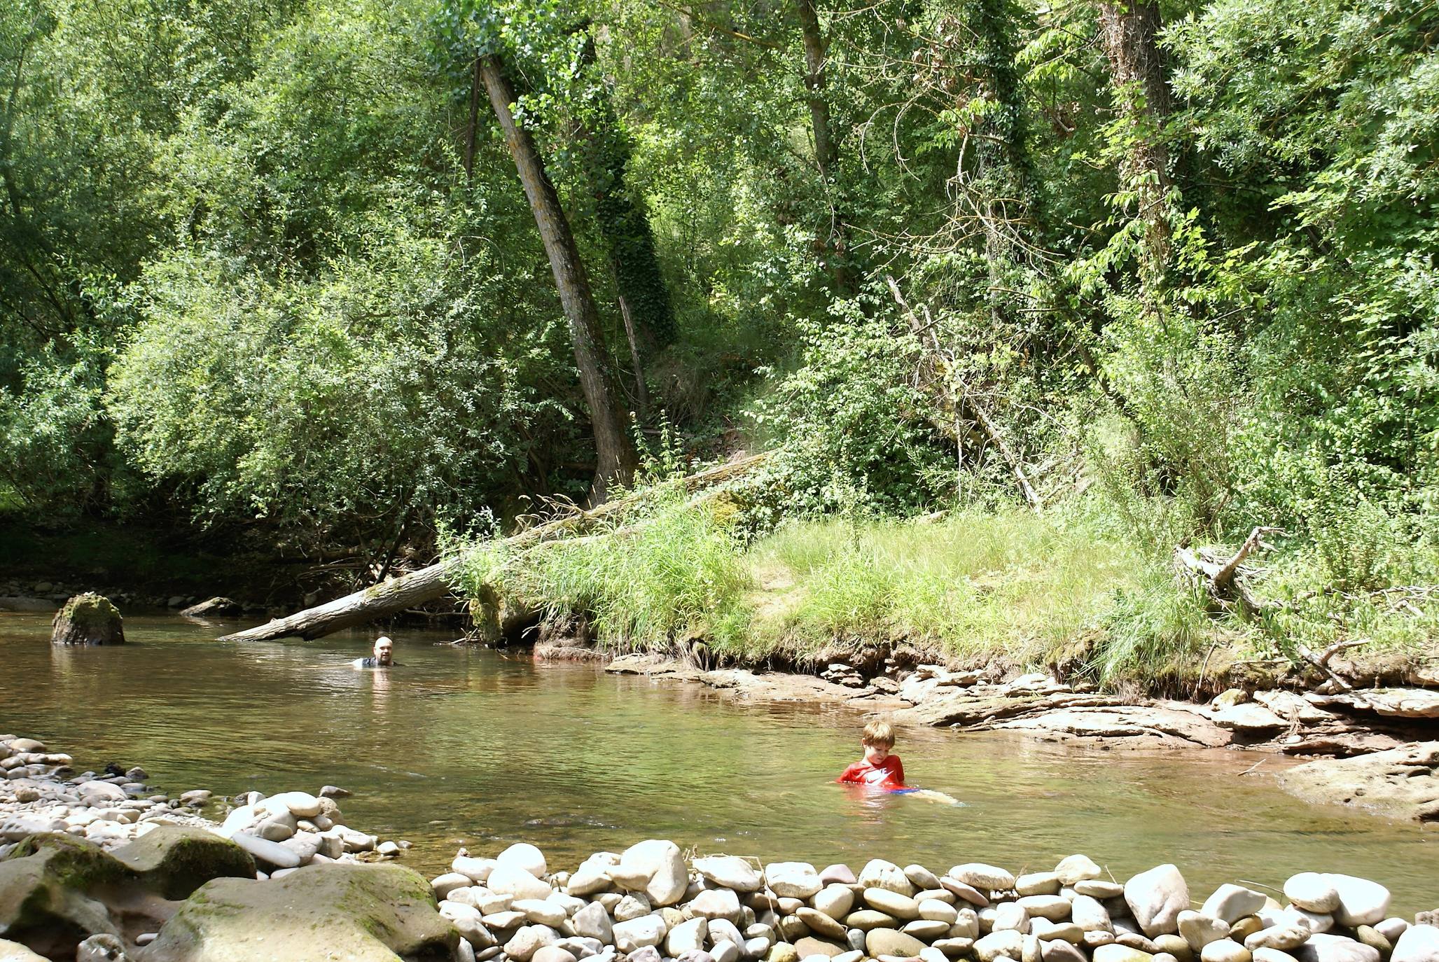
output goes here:
[[[767, 457], [768, 453], [751, 454], [735, 462], [718, 464], [695, 475], [689, 475], [688, 477], [679, 479], [676, 483], [685, 492], [698, 492], [707, 487], [715, 487], [743, 476], [753, 467], [761, 464]], [[554, 521], [537, 525], [528, 531], [511, 535], [509, 538], [501, 539], [498, 544], [509, 552], [525, 551], [543, 542], [554, 541], [555, 538], [587, 531], [599, 522], [619, 518], [625, 512], [642, 505], [655, 490], [656, 489], [639, 490], [589, 510], [576, 509], [564, 518], [555, 518]], [[383, 618], [389, 614], [404, 611], [406, 608], [425, 604], [426, 601], [433, 601], [435, 598], [448, 594], [455, 584], [456, 575], [463, 568], [463, 555], [445, 558], [429, 568], [422, 568], [383, 584], [363, 588], [342, 598], [327, 601], [322, 605], [307, 608], [305, 611], [299, 611], [283, 618], [275, 618], [255, 628], [227, 634], [220, 640], [269, 641], [272, 638], [283, 638], [288, 636], [318, 638], [321, 636], [340, 631], [341, 628]]]

